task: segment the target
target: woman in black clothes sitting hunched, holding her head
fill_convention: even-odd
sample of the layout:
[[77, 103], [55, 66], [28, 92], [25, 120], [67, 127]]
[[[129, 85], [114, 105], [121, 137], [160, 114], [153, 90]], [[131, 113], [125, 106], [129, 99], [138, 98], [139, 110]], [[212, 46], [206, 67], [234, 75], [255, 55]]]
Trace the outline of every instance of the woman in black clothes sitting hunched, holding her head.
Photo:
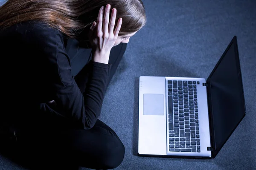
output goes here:
[[141, 0], [8, 0], [1, 6], [1, 147], [15, 148], [36, 169], [51, 169], [45, 160], [66, 169], [119, 166], [124, 145], [98, 116], [129, 38], [145, 23]]

